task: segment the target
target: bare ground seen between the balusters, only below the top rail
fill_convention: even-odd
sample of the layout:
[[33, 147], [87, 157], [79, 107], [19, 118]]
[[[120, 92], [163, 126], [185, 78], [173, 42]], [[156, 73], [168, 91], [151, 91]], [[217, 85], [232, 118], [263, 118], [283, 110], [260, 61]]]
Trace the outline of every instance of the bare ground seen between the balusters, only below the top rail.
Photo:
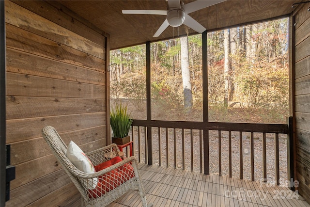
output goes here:
[[[130, 132], [131, 134], [131, 132]], [[251, 162], [250, 162], [250, 139], [249, 133], [243, 133], [242, 147], [243, 147], [243, 179], [251, 179]], [[262, 133], [254, 133], [254, 176], [255, 180], [263, 179], [263, 141]], [[266, 163], [267, 163], [267, 182], [275, 183], [275, 144], [274, 135], [266, 135]], [[135, 139], [134, 139], [134, 154], [139, 157], [138, 148], [138, 127], [135, 127]], [[140, 130], [140, 161], [145, 162], [145, 141], [144, 141], [144, 127]], [[153, 146], [153, 164], [159, 165], [159, 140], [158, 129], [152, 131], [152, 146]], [[280, 171], [280, 185], [286, 186], [287, 180], [287, 151], [286, 151], [286, 135], [279, 136], [279, 171]], [[200, 160], [203, 163], [203, 149], [200, 152], [200, 140], [199, 130], [193, 130], [193, 158], [191, 157], [191, 137], [190, 130], [185, 130], [185, 169], [191, 170], [191, 160], [193, 159], [193, 170], [200, 172]], [[229, 176], [229, 139], [228, 132], [222, 132], [221, 134], [221, 171], [223, 176]], [[182, 130], [176, 130], [176, 162], [177, 168], [182, 169]], [[166, 130], [161, 130], [161, 166], [167, 166], [167, 143], [166, 143]], [[169, 167], [174, 168], [174, 138], [173, 129], [169, 130], [168, 138], [168, 161]], [[232, 132], [232, 175], [233, 177], [240, 177], [240, 153], [239, 153], [239, 132]], [[219, 170], [219, 155], [218, 155], [218, 132], [209, 131], [209, 161], [210, 161], [210, 174], [218, 175]], [[202, 158], [201, 158], [202, 157]], [[202, 166], [203, 171], [203, 166]]]

